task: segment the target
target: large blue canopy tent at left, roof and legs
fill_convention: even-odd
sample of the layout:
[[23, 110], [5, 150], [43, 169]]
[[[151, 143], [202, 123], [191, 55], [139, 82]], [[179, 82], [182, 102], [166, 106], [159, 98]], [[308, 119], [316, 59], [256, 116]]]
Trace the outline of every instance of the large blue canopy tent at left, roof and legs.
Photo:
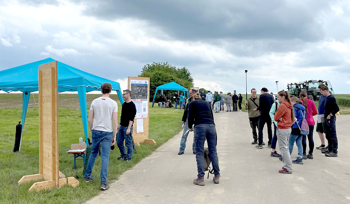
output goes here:
[[[22, 105], [22, 133], [26, 119], [30, 92], [38, 91], [38, 70], [39, 65], [54, 62], [55, 59], [47, 58], [37, 62], [17, 66], [14, 68], [0, 71], [0, 90], [5, 92], [21, 91], [23, 92]], [[57, 62], [58, 70], [58, 92], [77, 91], [82, 114], [85, 141], [87, 142], [87, 113], [86, 113], [86, 92], [99, 91], [101, 84], [109, 82], [112, 84], [112, 90], [117, 91], [120, 103], [123, 104], [123, 96], [118, 82], [108, 80], [72, 66]], [[22, 141], [21, 133], [21, 141]], [[20, 146], [21, 148], [21, 146]]]

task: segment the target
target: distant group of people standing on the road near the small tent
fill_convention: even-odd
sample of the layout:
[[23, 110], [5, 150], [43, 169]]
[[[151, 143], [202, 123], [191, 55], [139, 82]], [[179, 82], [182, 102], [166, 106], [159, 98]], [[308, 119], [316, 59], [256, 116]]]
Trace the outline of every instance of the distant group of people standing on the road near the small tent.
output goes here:
[[[219, 112], [224, 112], [225, 111], [225, 105], [226, 105], [226, 112], [237, 112], [237, 111], [242, 111], [242, 100], [243, 97], [242, 95], [239, 93], [236, 93], [236, 90], [233, 91], [233, 95], [231, 96], [231, 93], [227, 93], [227, 96], [225, 97], [225, 95], [220, 91], [214, 91], [214, 97], [211, 95], [210, 91], [208, 91], [207, 95], [202, 96], [202, 94], [204, 94], [204, 91], [202, 91], [201, 93], [201, 97], [203, 100], [207, 101], [209, 104], [212, 104], [212, 110], [214, 110], [214, 105], [216, 106], [216, 112], [215, 113], [219, 113]], [[231, 106], [232, 103], [232, 106]], [[238, 107], [237, 108], [237, 103], [238, 103]], [[232, 107], [232, 109], [231, 109]]]

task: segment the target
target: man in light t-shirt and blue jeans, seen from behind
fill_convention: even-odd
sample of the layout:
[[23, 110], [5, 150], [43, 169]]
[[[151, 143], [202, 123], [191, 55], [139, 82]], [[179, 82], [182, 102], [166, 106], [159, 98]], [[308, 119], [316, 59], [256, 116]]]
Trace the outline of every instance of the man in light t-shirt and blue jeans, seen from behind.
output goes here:
[[111, 146], [114, 145], [117, 138], [118, 104], [109, 98], [111, 91], [111, 83], [106, 82], [101, 85], [102, 97], [92, 101], [88, 120], [91, 130], [92, 149], [87, 161], [84, 181], [89, 182], [95, 179], [94, 176], [91, 176], [91, 172], [101, 144], [101, 190], [109, 189], [109, 185], [107, 185], [109, 154]]

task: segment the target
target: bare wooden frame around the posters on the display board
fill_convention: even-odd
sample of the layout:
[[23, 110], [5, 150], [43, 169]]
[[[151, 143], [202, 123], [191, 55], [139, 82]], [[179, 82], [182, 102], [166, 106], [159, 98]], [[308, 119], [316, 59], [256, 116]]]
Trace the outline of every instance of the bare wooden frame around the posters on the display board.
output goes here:
[[147, 101], [148, 101], [148, 114], [147, 118], [143, 118], [144, 121], [144, 132], [142, 133], [136, 133], [135, 127], [137, 126], [137, 119], [134, 119], [134, 131], [133, 131], [133, 138], [135, 143], [142, 143], [145, 142], [149, 145], [156, 145], [156, 142], [152, 139], [148, 139], [148, 125], [149, 125], [149, 77], [128, 77], [128, 89], [131, 90], [131, 83], [130, 80], [148, 80], [148, 91], [147, 91]]

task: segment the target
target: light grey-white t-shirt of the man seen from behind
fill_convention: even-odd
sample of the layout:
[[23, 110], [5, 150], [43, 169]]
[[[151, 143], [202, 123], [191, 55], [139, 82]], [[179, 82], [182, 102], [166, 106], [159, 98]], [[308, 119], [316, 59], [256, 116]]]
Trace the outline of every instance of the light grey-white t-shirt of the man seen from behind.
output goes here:
[[104, 132], [113, 132], [112, 115], [118, 112], [118, 104], [111, 98], [99, 97], [91, 103], [93, 110], [92, 129]]

